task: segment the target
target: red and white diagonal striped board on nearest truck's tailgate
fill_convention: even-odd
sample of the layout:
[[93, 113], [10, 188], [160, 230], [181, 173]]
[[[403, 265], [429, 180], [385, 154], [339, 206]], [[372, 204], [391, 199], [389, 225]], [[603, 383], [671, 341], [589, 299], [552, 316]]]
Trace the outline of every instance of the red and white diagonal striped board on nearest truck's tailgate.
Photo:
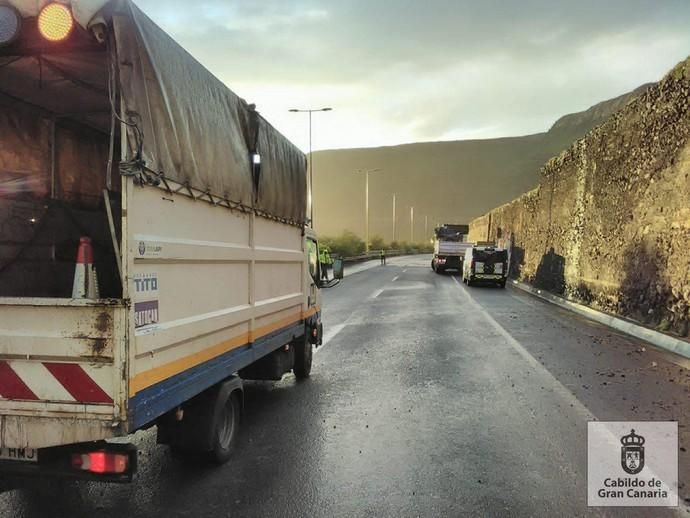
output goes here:
[[0, 361], [0, 398], [112, 404], [113, 398], [103, 388], [108, 380], [97, 380], [102, 377], [98, 370], [106, 376], [112, 372], [87, 372], [76, 363]]

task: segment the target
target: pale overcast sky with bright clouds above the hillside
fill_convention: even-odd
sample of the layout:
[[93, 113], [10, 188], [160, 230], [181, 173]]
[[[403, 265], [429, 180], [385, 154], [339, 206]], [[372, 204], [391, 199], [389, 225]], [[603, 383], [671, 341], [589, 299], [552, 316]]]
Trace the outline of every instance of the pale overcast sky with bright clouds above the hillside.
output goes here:
[[305, 151], [491, 138], [660, 79], [690, 0], [137, 0]]

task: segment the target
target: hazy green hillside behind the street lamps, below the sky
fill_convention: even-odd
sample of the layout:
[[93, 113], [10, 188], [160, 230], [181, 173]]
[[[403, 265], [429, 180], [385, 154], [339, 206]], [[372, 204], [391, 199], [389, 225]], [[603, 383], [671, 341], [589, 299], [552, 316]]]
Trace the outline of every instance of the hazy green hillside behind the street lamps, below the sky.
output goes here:
[[436, 223], [467, 223], [532, 189], [549, 158], [647, 87], [566, 115], [548, 132], [536, 135], [316, 152], [316, 230], [322, 236], [344, 230], [364, 235], [364, 175], [355, 171], [375, 168], [382, 171], [370, 176], [371, 236], [393, 239], [393, 193], [400, 241], [411, 238], [411, 206], [415, 241], [430, 238]]

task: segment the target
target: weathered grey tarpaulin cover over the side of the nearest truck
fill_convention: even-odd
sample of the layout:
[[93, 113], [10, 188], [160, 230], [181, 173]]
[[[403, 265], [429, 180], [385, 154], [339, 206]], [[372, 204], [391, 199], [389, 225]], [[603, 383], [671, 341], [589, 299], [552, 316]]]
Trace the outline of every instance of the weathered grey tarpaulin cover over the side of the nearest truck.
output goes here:
[[[143, 135], [146, 168], [295, 223], [306, 219], [306, 158], [136, 5], [113, 15], [123, 113]], [[137, 158], [137, 130], [128, 129]], [[260, 167], [252, 164], [258, 152]]]

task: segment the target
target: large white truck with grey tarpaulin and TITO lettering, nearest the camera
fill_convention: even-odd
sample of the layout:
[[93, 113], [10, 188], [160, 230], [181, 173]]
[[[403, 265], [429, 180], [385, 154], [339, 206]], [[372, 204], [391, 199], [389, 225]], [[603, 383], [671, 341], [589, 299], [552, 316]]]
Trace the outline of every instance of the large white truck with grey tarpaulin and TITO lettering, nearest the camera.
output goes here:
[[225, 462], [321, 342], [305, 156], [131, 1], [41, 5], [0, 6], [0, 479], [130, 481], [154, 425]]

